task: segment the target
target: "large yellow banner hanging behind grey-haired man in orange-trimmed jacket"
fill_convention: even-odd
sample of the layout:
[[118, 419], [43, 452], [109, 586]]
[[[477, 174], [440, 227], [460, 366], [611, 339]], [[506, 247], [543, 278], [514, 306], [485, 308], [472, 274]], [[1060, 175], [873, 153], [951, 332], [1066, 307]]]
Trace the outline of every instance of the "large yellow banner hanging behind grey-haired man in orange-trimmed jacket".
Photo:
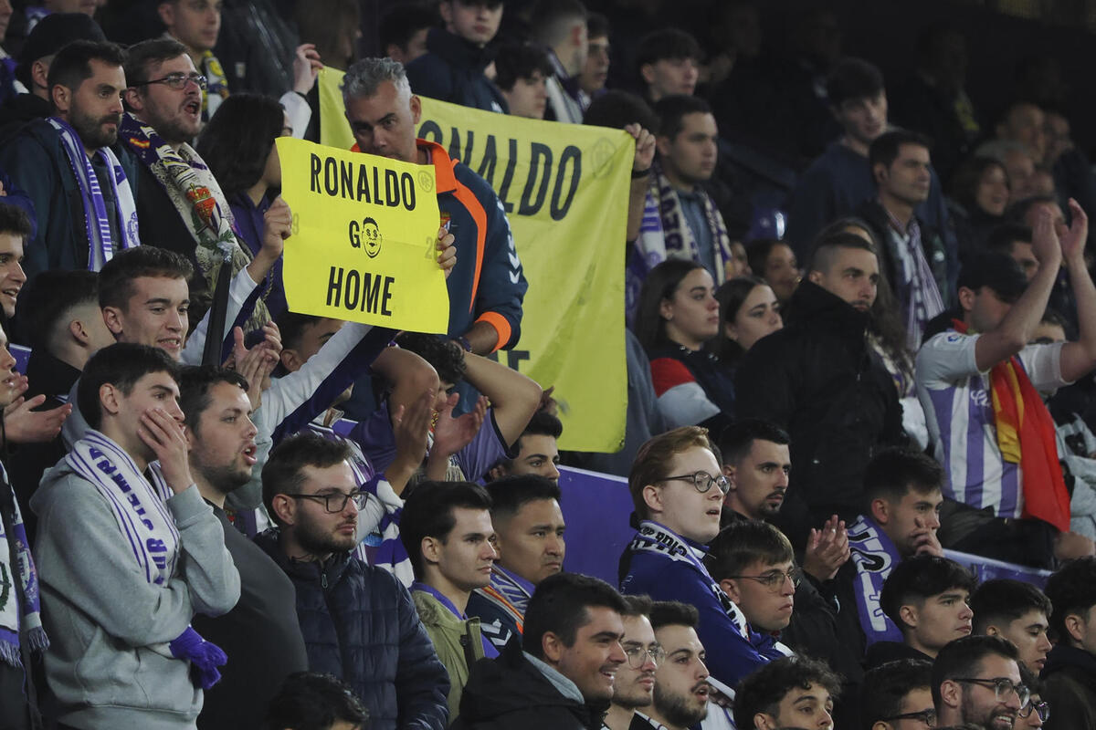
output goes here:
[[[320, 71], [320, 137], [354, 144], [339, 85]], [[619, 129], [563, 125], [422, 100], [419, 137], [444, 146], [494, 188], [510, 219], [529, 290], [522, 337], [499, 352], [556, 386], [562, 449], [624, 444], [625, 236], [635, 150]]]

